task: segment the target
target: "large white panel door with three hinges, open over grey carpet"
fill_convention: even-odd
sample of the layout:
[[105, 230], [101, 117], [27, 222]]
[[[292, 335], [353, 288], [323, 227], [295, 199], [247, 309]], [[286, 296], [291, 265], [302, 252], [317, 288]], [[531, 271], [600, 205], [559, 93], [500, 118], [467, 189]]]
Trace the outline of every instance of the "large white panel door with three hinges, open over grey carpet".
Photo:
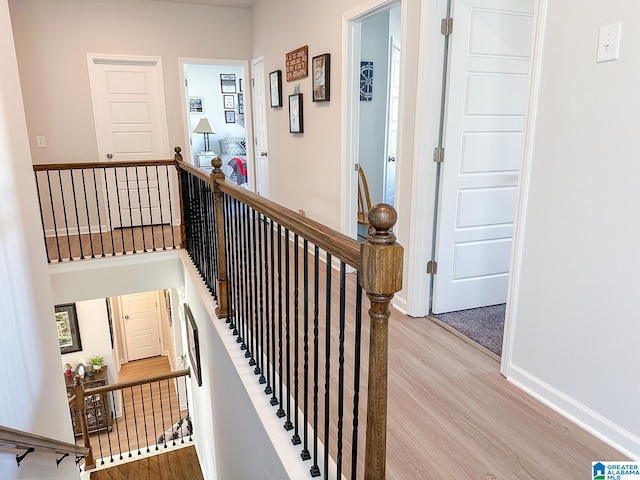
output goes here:
[[453, 0], [434, 313], [504, 303], [533, 0]]

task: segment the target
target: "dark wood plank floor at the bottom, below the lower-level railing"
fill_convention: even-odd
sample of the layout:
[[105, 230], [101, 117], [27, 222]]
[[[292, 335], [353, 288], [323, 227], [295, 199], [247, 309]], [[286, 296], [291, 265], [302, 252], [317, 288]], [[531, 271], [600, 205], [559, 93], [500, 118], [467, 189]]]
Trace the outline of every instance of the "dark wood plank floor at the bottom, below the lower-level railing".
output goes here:
[[201, 480], [193, 446], [91, 472], [91, 480]]

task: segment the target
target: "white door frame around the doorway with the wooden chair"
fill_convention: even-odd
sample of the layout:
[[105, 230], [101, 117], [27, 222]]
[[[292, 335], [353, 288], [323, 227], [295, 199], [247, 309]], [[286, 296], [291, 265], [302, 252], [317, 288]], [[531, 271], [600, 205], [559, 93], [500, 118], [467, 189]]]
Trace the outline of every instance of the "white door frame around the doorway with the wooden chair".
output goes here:
[[[368, 3], [350, 10], [342, 16], [342, 105], [341, 119], [341, 163], [342, 175], [340, 176], [341, 198], [341, 218], [340, 226], [342, 232], [356, 238], [358, 233], [357, 222], [357, 195], [358, 195], [358, 171], [354, 169], [358, 159], [358, 145], [360, 139], [360, 52], [361, 52], [361, 21], [367, 17], [387, 10], [394, 5], [400, 4], [401, 33], [400, 33], [400, 96], [398, 99], [398, 138], [402, 138], [402, 112], [404, 104], [404, 71], [406, 56], [403, 45], [407, 42], [406, 25], [408, 17], [407, 0], [372, 0]], [[398, 141], [396, 156], [402, 156], [402, 142]], [[396, 166], [396, 185], [400, 174], [400, 165]], [[397, 195], [396, 195], [396, 205]], [[396, 207], [396, 210], [398, 208]]]

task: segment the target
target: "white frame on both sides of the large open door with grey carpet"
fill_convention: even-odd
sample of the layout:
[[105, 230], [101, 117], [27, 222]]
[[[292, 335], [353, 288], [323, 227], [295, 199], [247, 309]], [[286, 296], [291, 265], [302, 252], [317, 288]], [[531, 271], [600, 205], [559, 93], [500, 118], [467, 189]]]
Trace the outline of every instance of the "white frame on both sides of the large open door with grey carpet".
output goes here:
[[[429, 314], [432, 295], [430, 275], [426, 273], [427, 262], [431, 259], [434, 244], [432, 227], [436, 208], [436, 162], [431, 160], [433, 148], [438, 143], [440, 98], [444, 81], [444, 36], [440, 33], [440, 20], [446, 16], [447, 0], [422, 1], [421, 51], [418, 73], [419, 92], [415, 122], [415, 152], [411, 180], [411, 210], [409, 222], [411, 231], [406, 248], [407, 313], [422, 317]], [[534, 0], [534, 19], [529, 65], [529, 91], [525, 109], [525, 126], [520, 152], [520, 179], [516, 202], [513, 230], [513, 244], [509, 267], [507, 307], [503, 336], [503, 350], [500, 372], [508, 377], [512, 364], [513, 340], [516, 326], [517, 298], [519, 291], [519, 271], [522, 263], [523, 232], [526, 221], [526, 206], [531, 182], [531, 165], [535, 135], [536, 114], [542, 71], [543, 39], [546, 27], [548, 0]], [[454, 19], [455, 29], [455, 19]], [[424, 161], [419, 159], [423, 158]], [[426, 292], [426, 293], [425, 293]]]

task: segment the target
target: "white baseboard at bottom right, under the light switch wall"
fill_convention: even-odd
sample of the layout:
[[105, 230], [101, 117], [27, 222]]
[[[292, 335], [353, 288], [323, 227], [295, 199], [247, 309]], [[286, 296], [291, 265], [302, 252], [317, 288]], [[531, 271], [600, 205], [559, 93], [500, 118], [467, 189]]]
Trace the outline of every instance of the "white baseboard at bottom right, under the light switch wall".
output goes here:
[[[511, 365], [508, 373], [509, 376], [507, 380], [509, 382], [537, 398], [603, 442], [611, 445], [623, 455], [635, 461], [640, 460], [640, 437], [625, 430], [518, 366]], [[619, 459], [594, 458], [593, 460], [615, 461]]]

